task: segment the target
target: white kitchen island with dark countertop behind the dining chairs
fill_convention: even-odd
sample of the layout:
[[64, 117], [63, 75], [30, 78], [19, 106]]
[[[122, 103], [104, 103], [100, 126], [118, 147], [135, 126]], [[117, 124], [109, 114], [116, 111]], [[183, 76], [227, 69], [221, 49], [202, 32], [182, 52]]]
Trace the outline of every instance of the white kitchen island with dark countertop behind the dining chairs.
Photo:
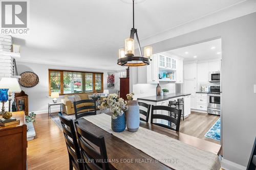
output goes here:
[[[169, 101], [178, 100], [180, 98], [183, 98], [184, 107], [180, 108], [182, 109], [182, 112], [184, 114], [184, 117], [187, 117], [190, 114], [190, 96], [191, 94], [188, 93], [170, 93], [167, 95], [153, 95], [153, 96], [147, 96], [144, 98], [138, 98], [138, 102], [143, 102], [149, 105], [154, 106], [168, 106]], [[159, 114], [159, 113], [158, 113]], [[160, 114], [168, 115], [167, 111], [161, 111]], [[150, 118], [148, 120], [150, 122]]]

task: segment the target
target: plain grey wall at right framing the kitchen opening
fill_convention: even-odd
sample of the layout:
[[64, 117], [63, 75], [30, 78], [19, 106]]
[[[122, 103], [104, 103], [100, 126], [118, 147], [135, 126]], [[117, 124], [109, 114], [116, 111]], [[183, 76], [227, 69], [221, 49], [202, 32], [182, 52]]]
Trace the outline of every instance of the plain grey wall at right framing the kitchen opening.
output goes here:
[[[246, 166], [256, 136], [256, 13], [151, 44], [155, 52], [222, 38], [223, 158]], [[224, 164], [223, 164], [224, 165]], [[236, 164], [233, 164], [236, 166]], [[234, 169], [229, 163], [226, 169]]]

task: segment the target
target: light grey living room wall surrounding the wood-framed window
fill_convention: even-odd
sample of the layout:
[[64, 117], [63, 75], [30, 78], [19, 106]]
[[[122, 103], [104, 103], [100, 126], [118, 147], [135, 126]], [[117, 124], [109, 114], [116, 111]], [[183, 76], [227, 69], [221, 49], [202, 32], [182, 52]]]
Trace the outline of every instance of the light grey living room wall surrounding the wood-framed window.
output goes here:
[[[22, 87], [22, 90], [29, 95], [29, 112], [36, 113], [47, 113], [48, 102], [52, 102], [49, 98], [49, 85], [48, 85], [48, 69], [67, 69], [67, 70], [78, 70], [78, 71], [99, 71], [103, 72], [103, 88], [108, 89], [106, 79], [107, 72], [113, 72], [111, 70], [100, 70], [100, 69], [87, 69], [79, 67], [67, 67], [67, 66], [57, 66], [48, 64], [36, 64], [36, 63], [26, 63], [17, 62], [18, 75], [24, 71], [33, 71], [39, 77], [39, 84], [32, 88]], [[111, 92], [111, 90], [110, 90]], [[60, 102], [58, 99], [58, 102]], [[53, 111], [59, 109], [58, 106], [52, 107]]]

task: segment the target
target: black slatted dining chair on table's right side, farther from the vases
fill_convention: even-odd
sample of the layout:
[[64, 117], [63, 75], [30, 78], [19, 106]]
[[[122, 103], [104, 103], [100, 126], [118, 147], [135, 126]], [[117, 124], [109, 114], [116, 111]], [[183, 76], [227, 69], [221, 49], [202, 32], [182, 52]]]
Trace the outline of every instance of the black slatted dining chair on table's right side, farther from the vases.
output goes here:
[[[170, 115], [172, 115], [172, 113], [175, 113], [178, 116], [177, 116], [177, 118], [175, 118], [175, 117], [164, 115], [164, 114], [154, 114], [155, 110], [156, 110], [156, 112], [157, 111], [166, 111], [167, 113], [168, 112], [171, 113]], [[154, 123], [153, 122], [154, 119], [167, 120], [168, 125], [165, 125], [162, 123]], [[151, 108], [151, 123], [152, 124], [179, 132], [180, 119], [181, 119], [181, 110], [173, 108], [173, 107], [169, 107], [169, 106], [154, 106], [154, 105], [152, 105], [152, 108]], [[172, 123], [176, 125], [175, 129], [172, 127]]]

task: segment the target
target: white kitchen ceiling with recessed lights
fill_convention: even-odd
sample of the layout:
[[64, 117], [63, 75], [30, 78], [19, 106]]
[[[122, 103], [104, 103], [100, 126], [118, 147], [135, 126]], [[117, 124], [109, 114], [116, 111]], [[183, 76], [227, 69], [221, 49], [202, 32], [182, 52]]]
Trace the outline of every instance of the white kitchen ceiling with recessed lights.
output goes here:
[[221, 39], [216, 39], [177, 48], [166, 53], [175, 54], [179, 57], [183, 57], [184, 61], [189, 61], [221, 58], [221, 52]]

